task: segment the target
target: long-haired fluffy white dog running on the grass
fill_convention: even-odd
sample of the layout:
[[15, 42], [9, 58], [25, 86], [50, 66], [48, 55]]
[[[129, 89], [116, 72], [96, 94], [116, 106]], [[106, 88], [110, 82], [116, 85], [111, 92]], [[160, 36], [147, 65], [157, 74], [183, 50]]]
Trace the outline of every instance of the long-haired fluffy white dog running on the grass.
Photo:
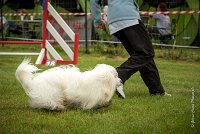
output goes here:
[[25, 59], [15, 74], [33, 108], [98, 108], [111, 103], [117, 88], [123, 94], [123, 85], [115, 68], [106, 64], [99, 64], [86, 72], [80, 72], [72, 65], [54, 67], [41, 73], [39, 70]]

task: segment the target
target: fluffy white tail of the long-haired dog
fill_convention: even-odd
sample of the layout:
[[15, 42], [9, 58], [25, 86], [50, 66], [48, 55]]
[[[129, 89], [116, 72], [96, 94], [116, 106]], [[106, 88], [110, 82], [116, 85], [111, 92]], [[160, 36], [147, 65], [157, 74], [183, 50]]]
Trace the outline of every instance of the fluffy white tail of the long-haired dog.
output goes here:
[[26, 85], [33, 77], [33, 73], [39, 69], [30, 63], [30, 59], [24, 59], [23, 62], [18, 66], [15, 76], [17, 80], [22, 84]]

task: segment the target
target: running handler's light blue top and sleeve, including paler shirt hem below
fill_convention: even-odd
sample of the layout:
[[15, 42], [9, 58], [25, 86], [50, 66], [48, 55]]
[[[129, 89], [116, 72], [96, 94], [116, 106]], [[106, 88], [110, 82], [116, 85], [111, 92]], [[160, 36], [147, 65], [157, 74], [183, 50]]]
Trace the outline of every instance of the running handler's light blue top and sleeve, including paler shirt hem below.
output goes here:
[[[90, 0], [92, 16], [95, 25], [101, 22], [101, 8], [98, 0]], [[135, 0], [109, 0], [108, 24], [110, 34], [114, 34], [126, 27], [139, 24], [139, 8]]]

